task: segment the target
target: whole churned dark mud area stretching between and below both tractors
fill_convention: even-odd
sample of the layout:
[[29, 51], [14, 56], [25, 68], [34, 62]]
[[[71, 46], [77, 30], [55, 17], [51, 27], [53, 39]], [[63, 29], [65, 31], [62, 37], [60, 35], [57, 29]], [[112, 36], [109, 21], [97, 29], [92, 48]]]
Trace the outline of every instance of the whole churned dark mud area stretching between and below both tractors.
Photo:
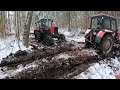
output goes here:
[[[0, 67], [15, 70], [18, 66], [24, 69], [6, 79], [72, 79], [89, 67], [90, 63], [98, 62], [100, 57], [92, 49], [82, 49], [84, 43], [61, 42], [54, 46], [37, 44], [31, 39], [32, 52], [18, 51], [4, 58]], [[27, 67], [34, 65], [34, 67]], [[27, 67], [27, 68], [26, 68]]]

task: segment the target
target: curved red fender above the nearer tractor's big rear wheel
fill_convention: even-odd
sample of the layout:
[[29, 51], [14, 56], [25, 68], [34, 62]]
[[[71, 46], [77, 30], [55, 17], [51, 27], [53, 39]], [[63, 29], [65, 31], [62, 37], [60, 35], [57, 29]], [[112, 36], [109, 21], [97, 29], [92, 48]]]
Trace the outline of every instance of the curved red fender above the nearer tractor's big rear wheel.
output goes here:
[[110, 31], [110, 30], [103, 30], [103, 31], [100, 31], [96, 37], [95, 37], [95, 42], [96, 43], [100, 43], [102, 38], [106, 35], [106, 34], [113, 34], [114, 32], [113, 31]]

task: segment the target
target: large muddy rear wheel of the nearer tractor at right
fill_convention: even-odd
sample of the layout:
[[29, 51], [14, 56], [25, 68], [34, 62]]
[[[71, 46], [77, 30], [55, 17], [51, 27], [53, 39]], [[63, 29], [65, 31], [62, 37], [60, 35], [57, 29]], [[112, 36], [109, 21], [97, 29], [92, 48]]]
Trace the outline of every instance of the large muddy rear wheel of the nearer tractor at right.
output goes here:
[[112, 50], [114, 44], [114, 39], [111, 34], [107, 34], [102, 38], [102, 41], [100, 42], [99, 48], [100, 51], [107, 55]]

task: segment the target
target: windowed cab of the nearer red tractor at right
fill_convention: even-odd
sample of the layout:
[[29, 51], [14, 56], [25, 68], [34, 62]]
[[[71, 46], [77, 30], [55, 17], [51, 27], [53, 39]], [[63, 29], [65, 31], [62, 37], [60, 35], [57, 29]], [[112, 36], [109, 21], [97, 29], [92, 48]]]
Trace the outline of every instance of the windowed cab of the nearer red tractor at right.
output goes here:
[[109, 15], [96, 15], [91, 17], [90, 28], [96, 32], [101, 30], [109, 30], [112, 32], [117, 31], [117, 21], [116, 18]]

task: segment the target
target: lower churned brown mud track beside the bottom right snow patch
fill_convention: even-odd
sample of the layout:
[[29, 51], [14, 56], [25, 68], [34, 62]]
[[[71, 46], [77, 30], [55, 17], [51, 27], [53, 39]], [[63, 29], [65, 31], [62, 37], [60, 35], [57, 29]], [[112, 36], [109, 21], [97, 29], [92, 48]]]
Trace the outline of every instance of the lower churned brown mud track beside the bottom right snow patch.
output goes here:
[[[63, 55], [65, 55], [65, 57]], [[13, 77], [7, 77], [7, 79], [68, 79], [77, 74], [77, 72], [82, 72], [85, 70], [85, 67], [88, 67], [85, 65], [85, 63], [93, 60], [98, 60], [98, 57], [97, 54], [92, 54], [92, 51], [90, 50], [83, 50], [81, 52], [79, 50], [75, 50], [74, 53], [73, 51], [68, 51], [55, 55], [50, 60], [45, 58], [35, 60], [32, 63], [38, 65], [38, 67], [25, 69]], [[81, 68], [77, 69], [76, 67]], [[72, 75], [67, 75], [68, 73], [73, 72], [75, 69], [78, 71], [74, 72]]]

